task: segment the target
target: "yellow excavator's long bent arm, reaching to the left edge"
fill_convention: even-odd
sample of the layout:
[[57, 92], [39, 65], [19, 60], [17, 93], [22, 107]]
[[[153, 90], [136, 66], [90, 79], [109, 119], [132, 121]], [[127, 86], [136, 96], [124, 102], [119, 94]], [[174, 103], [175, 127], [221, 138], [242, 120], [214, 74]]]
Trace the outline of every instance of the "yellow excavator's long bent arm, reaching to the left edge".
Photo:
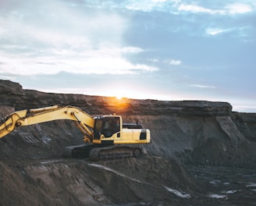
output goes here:
[[91, 115], [74, 106], [59, 106], [34, 108], [13, 112], [5, 116], [0, 123], [0, 138], [5, 137], [18, 126], [28, 126], [37, 123], [45, 123], [58, 119], [73, 120], [76, 126], [84, 134], [84, 141], [92, 142], [94, 119]]

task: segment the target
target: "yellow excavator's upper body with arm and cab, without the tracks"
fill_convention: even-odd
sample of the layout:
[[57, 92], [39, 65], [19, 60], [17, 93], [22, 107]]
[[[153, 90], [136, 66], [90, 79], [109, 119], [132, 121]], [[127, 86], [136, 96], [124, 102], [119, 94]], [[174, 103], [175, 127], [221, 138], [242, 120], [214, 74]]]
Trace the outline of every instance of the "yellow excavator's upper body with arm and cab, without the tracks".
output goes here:
[[22, 110], [7, 115], [0, 123], [0, 138], [5, 137], [18, 126], [29, 126], [59, 119], [73, 120], [84, 134], [85, 142], [94, 144], [143, 144], [150, 142], [149, 130], [123, 128], [123, 120], [119, 115], [104, 115], [93, 118], [80, 108], [59, 105]]

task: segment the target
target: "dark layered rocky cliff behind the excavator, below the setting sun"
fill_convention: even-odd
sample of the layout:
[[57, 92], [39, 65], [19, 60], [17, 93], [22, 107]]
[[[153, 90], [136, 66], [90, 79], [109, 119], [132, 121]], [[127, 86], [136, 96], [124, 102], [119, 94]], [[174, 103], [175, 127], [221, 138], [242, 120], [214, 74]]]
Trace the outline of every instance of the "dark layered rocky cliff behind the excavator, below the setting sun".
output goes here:
[[[151, 144], [145, 145], [145, 149], [165, 158], [200, 164], [240, 164], [256, 159], [256, 114], [232, 112], [232, 106], [226, 102], [118, 100], [83, 94], [50, 94], [23, 90], [19, 83], [8, 80], [0, 81], [2, 117], [16, 110], [50, 105], [74, 105], [91, 115], [116, 113], [123, 115], [124, 122], [139, 121], [151, 130]], [[31, 133], [31, 139], [37, 139], [34, 141], [55, 140], [59, 146], [71, 144], [70, 139], [75, 140], [74, 144], [82, 139], [73, 123], [67, 121], [19, 128], [10, 136], [28, 138]], [[5, 140], [13, 141], [13, 138]], [[55, 148], [51, 155], [59, 149]], [[38, 147], [37, 151], [44, 153], [44, 147]]]

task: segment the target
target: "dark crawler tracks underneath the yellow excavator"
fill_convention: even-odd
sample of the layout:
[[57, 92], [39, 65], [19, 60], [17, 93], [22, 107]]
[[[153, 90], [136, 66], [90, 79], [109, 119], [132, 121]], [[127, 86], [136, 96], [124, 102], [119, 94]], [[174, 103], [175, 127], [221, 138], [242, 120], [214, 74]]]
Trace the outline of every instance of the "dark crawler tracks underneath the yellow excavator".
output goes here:
[[66, 158], [90, 158], [91, 161], [114, 160], [119, 158], [138, 158], [142, 154], [139, 147], [117, 145], [80, 144], [66, 147], [62, 155]]

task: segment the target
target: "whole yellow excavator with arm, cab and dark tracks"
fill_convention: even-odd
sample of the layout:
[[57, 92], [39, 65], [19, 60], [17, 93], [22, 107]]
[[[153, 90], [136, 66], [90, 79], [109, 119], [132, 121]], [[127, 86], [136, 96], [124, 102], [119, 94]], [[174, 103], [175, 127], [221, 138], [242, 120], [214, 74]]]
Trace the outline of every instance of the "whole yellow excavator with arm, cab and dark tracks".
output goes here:
[[0, 123], [0, 138], [19, 126], [59, 119], [73, 120], [84, 134], [85, 144], [66, 147], [63, 151], [65, 157], [86, 157], [94, 161], [139, 157], [142, 150], [136, 147], [136, 144], [150, 142], [150, 130], [143, 129], [140, 124], [123, 123], [120, 115], [92, 117], [82, 109], [70, 105], [54, 105], [12, 112]]

